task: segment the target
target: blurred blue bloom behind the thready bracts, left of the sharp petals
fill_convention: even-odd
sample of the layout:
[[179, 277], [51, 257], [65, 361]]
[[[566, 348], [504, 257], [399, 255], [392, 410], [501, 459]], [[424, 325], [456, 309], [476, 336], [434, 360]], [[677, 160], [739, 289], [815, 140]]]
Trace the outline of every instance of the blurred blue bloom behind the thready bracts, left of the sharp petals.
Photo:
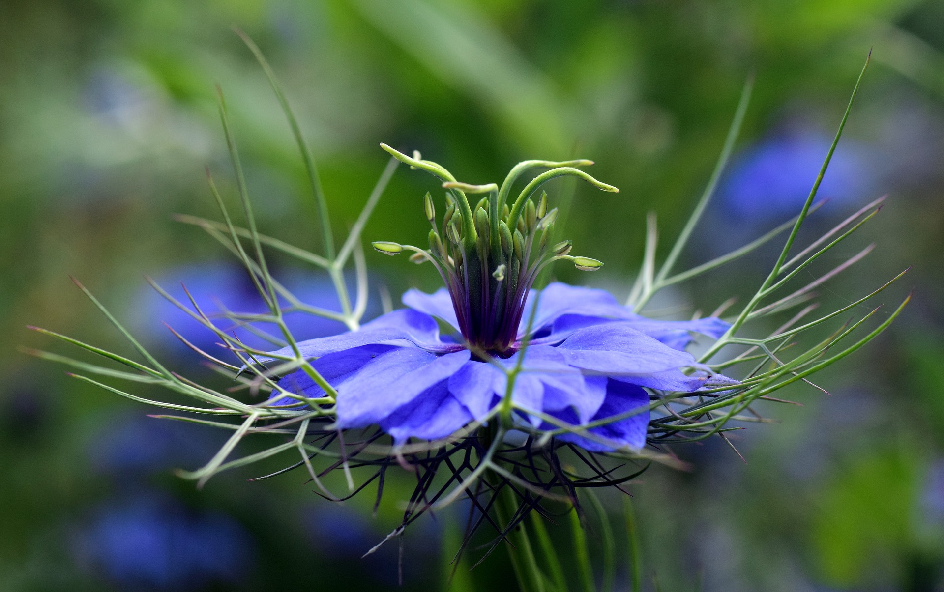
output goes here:
[[[325, 273], [298, 272], [280, 274], [277, 279], [295, 297], [305, 304], [312, 304], [320, 308], [340, 311], [334, 285]], [[247, 272], [228, 262], [197, 263], [179, 267], [155, 278], [158, 285], [183, 304], [190, 306], [190, 300], [181, 284], [187, 288], [196, 304], [204, 313], [211, 316], [229, 310], [240, 313], [267, 313], [259, 292], [249, 279]], [[348, 278], [348, 288], [353, 295], [353, 282]], [[353, 298], [353, 296], [352, 296]], [[217, 357], [226, 355], [224, 350], [216, 345], [219, 338], [209, 329], [194, 321], [177, 305], [163, 298], [150, 286], [143, 288], [142, 293], [135, 299], [136, 325], [150, 341], [157, 341], [160, 346], [180, 354], [190, 353], [191, 350], [175, 337], [162, 324], [166, 322], [182, 337], [196, 347]], [[221, 308], [222, 304], [222, 308]], [[286, 303], [283, 303], [286, 304]], [[379, 313], [377, 299], [371, 299], [367, 305], [365, 320], [369, 320]], [[285, 321], [298, 339], [326, 337], [346, 330], [341, 321], [333, 321], [317, 317], [305, 312], [293, 312], [285, 315]], [[213, 324], [222, 330], [232, 333], [231, 321], [216, 319]], [[278, 328], [272, 323], [254, 323], [254, 326], [270, 335], [278, 335]], [[262, 337], [253, 334], [245, 328], [236, 329], [236, 334], [249, 347], [262, 350], [271, 349], [272, 344]]]

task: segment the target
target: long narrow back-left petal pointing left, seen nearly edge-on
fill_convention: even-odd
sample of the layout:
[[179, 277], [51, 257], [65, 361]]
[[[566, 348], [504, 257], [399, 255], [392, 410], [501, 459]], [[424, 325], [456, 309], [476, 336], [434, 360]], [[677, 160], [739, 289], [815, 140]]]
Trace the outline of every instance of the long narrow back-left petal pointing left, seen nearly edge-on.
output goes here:
[[[404, 341], [428, 352], [448, 352], [458, 349], [458, 346], [444, 343], [439, 339], [439, 325], [430, 315], [404, 308], [370, 321], [358, 331], [301, 341], [298, 343], [298, 350], [303, 356], [312, 358], [370, 343], [393, 342], [396, 345], [404, 345]], [[272, 354], [294, 355], [294, 352], [291, 347], [284, 347]], [[271, 358], [260, 359], [267, 361]]]

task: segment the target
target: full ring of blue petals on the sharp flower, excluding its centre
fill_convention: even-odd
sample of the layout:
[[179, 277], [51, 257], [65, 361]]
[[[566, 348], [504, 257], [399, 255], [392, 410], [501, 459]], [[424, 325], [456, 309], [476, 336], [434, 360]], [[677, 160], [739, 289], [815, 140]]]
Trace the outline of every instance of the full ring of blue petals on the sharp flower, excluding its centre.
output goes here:
[[[538, 294], [540, 293], [540, 299]], [[719, 337], [728, 324], [718, 319], [653, 321], [633, 314], [610, 293], [554, 283], [531, 291], [518, 310], [508, 313], [515, 323], [514, 340], [504, 352], [468, 345], [470, 319], [462, 304], [453, 305], [446, 288], [434, 294], [410, 290], [395, 310], [360, 331], [310, 339], [298, 344], [312, 367], [337, 388], [337, 425], [358, 428], [379, 424], [398, 443], [410, 437], [448, 436], [473, 420], [483, 419], [502, 399], [507, 375], [523, 356], [523, 371], [514, 382], [514, 403], [571, 425], [607, 419], [637, 409], [624, 419], [592, 428], [606, 444], [574, 434], [559, 436], [592, 451], [641, 448], [649, 423], [649, 394], [644, 387], [695, 391], [703, 386], [729, 384], [723, 376], [708, 376], [695, 358], [683, 351], [689, 332]], [[535, 304], [536, 303], [536, 304]], [[536, 305], [531, 325], [530, 311]], [[435, 318], [463, 327], [462, 343], [443, 339]], [[532, 328], [529, 331], [529, 328]], [[527, 350], [522, 350], [523, 342]], [[276, 352], [291, 355], [291, 350]], [[700, 369], [687, 375], [683, 369]], [[306, 397], [324, 396], [302, 370], [283, 377], [278, 386]], [[384, 392], [384, 397], [378, 397]], [[274, 391], [273, 404], [295, 400]], [[537, 414], [523, 420], [542, 425]]]

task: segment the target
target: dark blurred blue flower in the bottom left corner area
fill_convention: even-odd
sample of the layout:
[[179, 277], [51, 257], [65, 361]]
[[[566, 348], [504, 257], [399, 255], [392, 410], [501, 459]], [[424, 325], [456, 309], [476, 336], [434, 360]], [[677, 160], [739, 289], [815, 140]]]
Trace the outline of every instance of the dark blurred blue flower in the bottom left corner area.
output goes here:
[[254, 556], [250, 535], [234, 519], [149, 493], [106, 504], [76, 537], [76, 558], [121, 589], [234, 583]]

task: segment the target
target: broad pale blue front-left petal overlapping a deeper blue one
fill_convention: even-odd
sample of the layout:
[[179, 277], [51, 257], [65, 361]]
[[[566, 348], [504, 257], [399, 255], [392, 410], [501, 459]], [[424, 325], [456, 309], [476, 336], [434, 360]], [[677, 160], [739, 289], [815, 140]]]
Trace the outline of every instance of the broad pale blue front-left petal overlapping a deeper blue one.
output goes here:
[[469, 359], [467, 350], [436, 356], [405, 347], [380, 354], [338, 386], [338, 426], [365, 427], [445, 381]]

